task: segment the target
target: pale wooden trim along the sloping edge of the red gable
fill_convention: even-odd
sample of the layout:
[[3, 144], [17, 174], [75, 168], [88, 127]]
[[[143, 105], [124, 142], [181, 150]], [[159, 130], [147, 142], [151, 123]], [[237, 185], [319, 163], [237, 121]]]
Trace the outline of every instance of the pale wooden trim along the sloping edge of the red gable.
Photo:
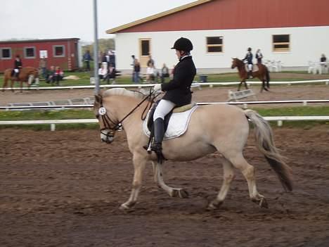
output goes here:
[[150, 15], [150, 16], [148, 16], [146, 18], [143, 18], [143, 19], [140, 19], [140, 20], [136, 20], [136, 21], [134, 21], [132, 23], [127, 23], [127, 24], [121, 25], [119, 27], [112, 28], [110, 30], [107, 30], [106, 33], [107, 34], [114, 34], [116, 32], [120, 32], [122, 30], [125, 30], [125, 29], [127, 29], [129, 27], [134, 27], [136, 25], [140, 25], [142, 23], [146, 23], [146, 22], [148, 22], [150, 20], [155, 20], [155, 19], [159, 19], [159, 18], [162, 18], [164, 16], [167, 16], [167, 15], [172, 15], [173, 13], [177, 13], [179, 11], [183, 11], [183, 10], [186, 10], [188, 8], [193, 8], [195, 6], [199, 6], [200, 4], [205, 4], [205, 3], [209, 2], [209, 1], [213, 1], [213, 0], [198, 0], [198, 1], [193, 1], [190, 4], [185, 4], [185, 5], [179, 6], [177, 8], [172, 8], [169, 11], [164, 11], [164, 12], [161, 12], [161, 13], [157, 13], [155, 15]]

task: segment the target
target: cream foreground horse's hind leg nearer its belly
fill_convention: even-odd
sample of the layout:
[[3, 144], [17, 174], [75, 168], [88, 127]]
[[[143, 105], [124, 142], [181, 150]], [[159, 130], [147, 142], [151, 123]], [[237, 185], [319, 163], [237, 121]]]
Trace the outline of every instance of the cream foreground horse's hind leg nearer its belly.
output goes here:
[[218, 208], [221, 205], [221, 203], [224, 202], [228, 189], [230, 189], [231, 182], [234, 179], [234, 167], [232, 163], [226, 158], [222, 160], [222, 163], [224, 169], [223, 184], [221, 185], [221, 190], [219, 191], [217, 198], [215, 198], [211, 203], [209, 203], [208, 209], [210, 210]]

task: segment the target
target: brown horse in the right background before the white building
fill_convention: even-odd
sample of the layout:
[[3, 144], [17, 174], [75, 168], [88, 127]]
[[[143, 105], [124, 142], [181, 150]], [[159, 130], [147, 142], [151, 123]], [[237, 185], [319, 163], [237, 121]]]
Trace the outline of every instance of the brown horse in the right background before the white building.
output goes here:
[[[238, 91], [240, 91], [240, 87], [243, 83], [245, 83], [245, 88], [248, 89], [247, 83], [245, 82], [245, 80], [247, 80], [248, 78], [248, 72], [247, 70], [245, 70], [245, 63], [243, 63], [243, 61], [241, 61], [238, 58], [232, 58], [232, 59], [233, 61], [231, 68], [238, 68], [238, 73], [241, 80], [238, 87]], [[257, 66], [259, 70], [252, 72], [252, 77], [257, 77], [259, 80], [261, 80], [262, 82], [261, 92], [263, 91], [263, 89], [265, 91], [269, 91], [269, 80], [270, 80], [269, 69], [262, 63], [257, 63]], [[266, 86], [265, 86], [265, 82], [266, 82]]]

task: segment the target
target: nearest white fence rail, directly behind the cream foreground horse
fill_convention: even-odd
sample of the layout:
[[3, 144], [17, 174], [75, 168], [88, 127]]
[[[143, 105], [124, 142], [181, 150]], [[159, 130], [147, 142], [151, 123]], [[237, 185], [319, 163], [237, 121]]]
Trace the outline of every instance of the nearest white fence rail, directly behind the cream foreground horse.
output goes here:
[[[277, 121], [278, 126], [283, 125], [283, 121], [328, 121], [329, 116], [279, 116], [279, 117], [264, 117], [267, 121]], [[0, 125], [51, 125], [51, 131], [56, 129], [57, 124], [72, 124], [72, 123], [96, 123], [96, 119], [73, 119], [73, 120], [9, 120], [0, 121]]]

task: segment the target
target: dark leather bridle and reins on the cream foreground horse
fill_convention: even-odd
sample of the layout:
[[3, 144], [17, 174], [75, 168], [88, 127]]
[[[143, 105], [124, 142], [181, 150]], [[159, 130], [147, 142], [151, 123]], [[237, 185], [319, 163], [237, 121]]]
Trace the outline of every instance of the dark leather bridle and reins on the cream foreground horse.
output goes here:
[[[138, 93], [141, 93], [139, 91], [137, 91]], [[142, 94], [142, 93], [141, 93]], [[122, 120], [119, 120], [117, 122], [115, 122], [114, 120], [112, 120], [110, 118], [110, 116], [107, 113], [106, 108], [103, 106], [103, 97], [100, 96], [100, 108], [98, 109], [98, 114], [96, 115], [96, 118], [98, 119], [101, 116], [101, 119], [103, 121], [103, 125], [104, 127], [102, 129], [100, 129], [101, 134], [106, 136], [106, 142], [108, 142], [108, 139], [113, 139], [115, 136], [115, 132], [119, 129], [122, 129], [122, 122], [127, 119], [129, 117], [129, 115], [131, 115], [132, 113], [134, 113], [134, 111], [141, 106], [141, 104], [148, 100], [148, 103], [146, 104], [146, 107], [143, 110], [143, 113], [141, 114], [141, 120], [145, 120], [146, 118], [146, 114], [148, 112], [148, 110], [151, 108], [151, 106], [154, 103], [154, 99], [158, 96], [159, 94], [154, 94], [154, 91], [152, 91], [152, 89], [150, 89], [150, 93], [141, 101], [137, 104], [137, 106], [135, 106], [132, 110], [129, 111], [129, 113], [127, 113], [127, 115], [124, 116], [124, 118], [122, 118]], [[113, 125], [113, 127], [111, 127], [111, 124]], [[105, 130], [108, 130], [108, 132], [104, 132]]]

